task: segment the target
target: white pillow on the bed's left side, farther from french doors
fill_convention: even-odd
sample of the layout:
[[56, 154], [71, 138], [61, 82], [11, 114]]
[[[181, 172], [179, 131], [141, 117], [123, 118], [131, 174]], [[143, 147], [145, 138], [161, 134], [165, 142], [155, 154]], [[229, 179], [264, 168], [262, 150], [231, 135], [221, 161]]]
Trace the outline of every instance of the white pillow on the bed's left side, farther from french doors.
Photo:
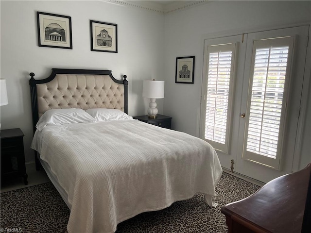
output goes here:
[[38, 120], [35, 127], [41, 131], [46, 125], [94, 122], [95, 119], [79, 108], [50, 109]]

